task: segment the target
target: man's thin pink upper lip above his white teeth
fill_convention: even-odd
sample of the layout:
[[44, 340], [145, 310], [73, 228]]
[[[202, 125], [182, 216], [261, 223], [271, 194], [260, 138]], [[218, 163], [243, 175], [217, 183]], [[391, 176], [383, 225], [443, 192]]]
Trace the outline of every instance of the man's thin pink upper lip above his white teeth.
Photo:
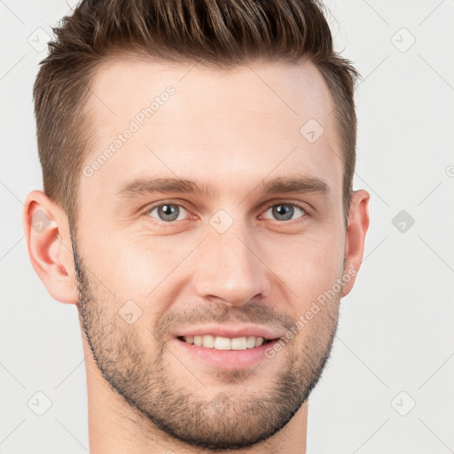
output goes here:
[[181, 329], [176, 333], [176, 337], [181, 336], [202, 336], [204, 334], [212, 334], [222, 337], [244, 337], [255, 336], [262, 337], [267, 340], [277, 339], [283, 336], [278, 333], [276, 328], [261, 325], [198, 325]]

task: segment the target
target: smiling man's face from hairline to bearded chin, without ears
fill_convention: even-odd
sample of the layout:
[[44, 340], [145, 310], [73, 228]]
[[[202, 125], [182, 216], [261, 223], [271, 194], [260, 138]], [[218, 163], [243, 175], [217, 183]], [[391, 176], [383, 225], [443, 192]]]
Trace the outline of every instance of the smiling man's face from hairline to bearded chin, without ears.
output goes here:
[[[270, 437], [322, 373], [347, 272], [340, 142], [321, 74], [116, 60], [91, 90], [74, 247], [100, 371], [184, 442], [227, 449]], [[142, 111], [153, 98], [153, 114]], [[153, 192], [156, 178], [209, 191]], [[264, 191], [279, 178], [303, 184]], [[201, 346], [183, 338], [194, 335]]]

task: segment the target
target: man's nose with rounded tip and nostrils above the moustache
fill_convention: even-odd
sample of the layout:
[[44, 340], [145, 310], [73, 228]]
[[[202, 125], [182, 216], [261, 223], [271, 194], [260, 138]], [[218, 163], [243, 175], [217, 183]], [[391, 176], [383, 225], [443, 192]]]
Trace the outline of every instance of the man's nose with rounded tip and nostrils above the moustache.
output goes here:
[[210, 232], [195, 258], [194, 286], [204, 300], [242, 306], [270, 294], [270, 270], [256, 242], [239, 229]]

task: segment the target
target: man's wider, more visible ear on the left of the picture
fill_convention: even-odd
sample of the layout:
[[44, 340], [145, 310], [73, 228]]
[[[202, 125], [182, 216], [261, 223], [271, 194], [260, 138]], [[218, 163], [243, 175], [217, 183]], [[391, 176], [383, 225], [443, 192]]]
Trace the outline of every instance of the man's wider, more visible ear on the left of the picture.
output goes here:
[[23, 214], [27, 249], [38, 277], [52, 298], [78, 301], [73, 247], [67, 215], [43, 192], [27, 195]]

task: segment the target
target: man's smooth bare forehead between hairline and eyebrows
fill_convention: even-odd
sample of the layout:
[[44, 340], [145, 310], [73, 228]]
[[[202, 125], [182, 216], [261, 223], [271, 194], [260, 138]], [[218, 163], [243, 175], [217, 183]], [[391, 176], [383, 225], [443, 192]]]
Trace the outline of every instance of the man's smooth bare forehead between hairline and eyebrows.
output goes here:
[[87, 191], [114, 193], [130, 176], [153, 175], [246, 191], [247, 182], [292, 170], [340, 185], [333, 98], [309, 62], [214, 70], [111, 59], [92, 80], [87, 110], [84, 164], [98, 162], [82, 176]]

